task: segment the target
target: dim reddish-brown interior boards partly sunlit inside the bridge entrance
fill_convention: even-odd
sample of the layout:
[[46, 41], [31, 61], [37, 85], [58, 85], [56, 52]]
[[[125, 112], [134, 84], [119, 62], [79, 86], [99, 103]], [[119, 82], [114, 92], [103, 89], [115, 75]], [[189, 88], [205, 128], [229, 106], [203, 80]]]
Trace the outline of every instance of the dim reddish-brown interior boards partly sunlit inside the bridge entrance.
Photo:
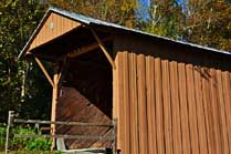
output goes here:
[[[90, 102], [83, 94], [74, 88], [62, 88], [61, 95], [57, 101], [56, 121], [74, 121], [85, 123], [111, 124], [112, 120], [106, 116], [95, 104]], [[66, 126], [57, 125], [57, 134], [69, 135], [112, 135], [112, 129], [98, 126]], [[69, 148], [86, 148], [86, 147], [111, 147], [109, 141], [97, 140], [65, 140]]]

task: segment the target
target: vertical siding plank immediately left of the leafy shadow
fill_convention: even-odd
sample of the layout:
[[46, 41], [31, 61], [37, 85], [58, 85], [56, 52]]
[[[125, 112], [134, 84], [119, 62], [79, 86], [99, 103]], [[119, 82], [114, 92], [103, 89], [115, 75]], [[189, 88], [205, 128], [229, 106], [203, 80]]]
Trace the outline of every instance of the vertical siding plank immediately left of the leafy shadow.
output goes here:
[[192, 154], [199, 154], [198, 144], [198, 123], [197, 123], [197, 104], [195, 100], [195, 79], [192, 72], [192, 64], [186, 65], [187, 79], [187, 94], [188, 94], [188, 112], [189, 112], [189, 126]]

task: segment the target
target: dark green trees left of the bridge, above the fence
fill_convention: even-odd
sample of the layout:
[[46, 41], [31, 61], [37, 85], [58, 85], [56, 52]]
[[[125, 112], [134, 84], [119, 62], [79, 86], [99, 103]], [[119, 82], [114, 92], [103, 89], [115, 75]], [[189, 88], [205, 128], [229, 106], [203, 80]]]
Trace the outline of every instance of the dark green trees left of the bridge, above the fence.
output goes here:
[[0, 122], [7, 121], [9, 110], [24, 117], [49, 117], [49, 84], [33, 62], [17, 58], [45, 8], [34, 0], [0, 1]]

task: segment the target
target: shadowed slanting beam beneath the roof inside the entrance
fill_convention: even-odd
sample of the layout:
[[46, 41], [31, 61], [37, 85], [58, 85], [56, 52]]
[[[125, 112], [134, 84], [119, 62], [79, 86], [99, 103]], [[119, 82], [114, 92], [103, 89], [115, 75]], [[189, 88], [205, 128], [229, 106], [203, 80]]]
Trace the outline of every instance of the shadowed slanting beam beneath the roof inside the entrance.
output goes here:
[[[102, 41], [103, 42], [106, 42], [106, 41], [112, 40], [112, 38], [113, 37], [111, 35], [108, 38], [103, 39]], [[92, 44], [85, 45], [83, 48], [80, 48], [80, 49], [75, 50], [74, 52], [69, 53], [67, 54], [67, 58], [76, 58], [76, 57], [80, 57], [80, 55], [82, 55], [84, 53], [87, 53], [90, 51], [93, 51], [93, 50], [95, 50], [97, 48], [99, 48], [98, 43], [92, 43]]]

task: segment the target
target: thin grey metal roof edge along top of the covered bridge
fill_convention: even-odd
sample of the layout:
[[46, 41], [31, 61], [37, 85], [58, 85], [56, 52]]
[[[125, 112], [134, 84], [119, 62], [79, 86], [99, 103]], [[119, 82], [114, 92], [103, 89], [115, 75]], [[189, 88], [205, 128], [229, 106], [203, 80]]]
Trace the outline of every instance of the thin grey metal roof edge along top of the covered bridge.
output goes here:
[[124, 31], [129, 31], [129, 32], [139, 33], [139, 34], [144, 34], [144, 35], [149, 35], [149, 37], [154, 37], [154, 38], [157, 38], [157, 39], [160, 39], [160, 40], [166, 40], [166, 41], [178, 43], [178, 44], [183, 44], [183, 45], [188, 45], [188, 47], [192, 47], [192, 48], [198, 48], [198, 49], [202, 49], [202, 50], [208, 50], [208, 51], [212, 51], [212, 52], [217, 52], [217, 53], [231, 55], [231, 52], [228, 52], [228, 51], [222, 51], [222, 50], [217, 50], [217, 49], [213, 49], [213, 48], [208, 48], [208, 47], [203, 47], [203, 45], [199, 45], [199, 44], [178, 41], [178, 40], [169, 39], [169, 38], [166, 38], [166, 37], [160, 37], [160, 35], [157, 35], [157, 34], [147, 33], [147, 32], [144, 32], [144, 31], [140, 31], [140, 30], [129, 29], [129, 28], [118, 25], [118, 24], [115, 24], [115, 23], [102, 21], [102, 20], [98, 20], [98, 19], [85, 17], [85, 16], [82, 16], [82, 14], [78, 14], [78, 13], [74, 13], [74, 12], [71, 12], [71, 11], [66, 11], [66, 10], [62, 10], [62, 9], [59, 9], [59, 8], [51, 7], [46, 11], [45, 16], [41, 20], [38, 28], [34, 30], [33, 34], [31, 35], [30, 40], [27, 42], [25, 47], [22, 49], [21, 53], [19, 54], [19, 58], [22, 57], [25, 53], [30, 43], [33, 41], [34, 37], [36, 35], [36, 33], [41, 29], [42, 24], [45, 22], [45, 19], [49, 17], [49, 14], [51, 12], [55, 12], [60, 16], [67, 17], [70, 19], [82, 22], [84, 24], [93, 23], [93, 24], [97, 24], [97, 25], [104, 25], [104, 27], [108, 27], [108, 28], [120, 29], [120, 30], [124, 30]]

